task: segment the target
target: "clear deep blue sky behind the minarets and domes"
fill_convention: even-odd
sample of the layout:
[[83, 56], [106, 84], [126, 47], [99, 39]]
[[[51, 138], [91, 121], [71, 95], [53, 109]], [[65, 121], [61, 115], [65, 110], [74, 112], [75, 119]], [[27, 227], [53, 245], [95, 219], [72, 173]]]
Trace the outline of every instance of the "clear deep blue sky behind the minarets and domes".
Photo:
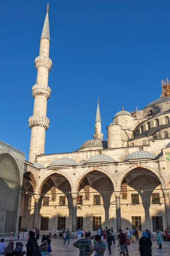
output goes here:
[[[46, 0], [1, 2], [0, 140], [26, 153], [33, 113], [34, 58]], [[170, 1], [50, 0], [51, 97], [45, 154], [77, 150], [93, 137], [97, 98], [102, 132], [114, 114], [158, 99], [170, 78]]]

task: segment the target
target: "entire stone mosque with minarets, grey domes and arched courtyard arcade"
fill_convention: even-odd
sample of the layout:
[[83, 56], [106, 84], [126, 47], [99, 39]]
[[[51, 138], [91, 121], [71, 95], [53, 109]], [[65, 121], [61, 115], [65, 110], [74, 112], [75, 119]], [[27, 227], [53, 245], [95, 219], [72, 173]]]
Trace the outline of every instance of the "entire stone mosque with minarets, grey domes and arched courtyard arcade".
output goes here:
[[107, 140], [98, 101], [95, 132], [88, 141], [73, 152], [44, 154], [50, 43], [47, 8], [35, 58], [29, 161], [0, 142], [0, 233], [22, 226], [170, 232], [170, 81], [161, 81], [161, 97], [142, 110], [122, 107], [107, 126]]

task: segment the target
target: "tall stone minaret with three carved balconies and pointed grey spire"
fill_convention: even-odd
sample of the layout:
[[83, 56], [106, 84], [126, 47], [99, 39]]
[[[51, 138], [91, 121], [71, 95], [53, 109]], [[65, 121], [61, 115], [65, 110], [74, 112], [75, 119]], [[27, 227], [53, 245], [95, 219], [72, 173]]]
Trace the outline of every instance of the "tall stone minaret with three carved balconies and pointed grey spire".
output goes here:
[[48, 129], [50, 120], [46, 117], [47, 100], [51, 94], [48, 87], [48, 72], [51, 70], [52, 61], [49, 58], [50, 30], [48, 20], [48, 6], [44, 26], [40, 38], [40, 53], [35, 59], [37, 69], [37, 81], [32, 87], [34, 97], [33, 116], [28, 119], [31, 128], [31, 142], [29, 149], [29, 161], [34, 162], [36, 155], [44, 154], [45, 131]]

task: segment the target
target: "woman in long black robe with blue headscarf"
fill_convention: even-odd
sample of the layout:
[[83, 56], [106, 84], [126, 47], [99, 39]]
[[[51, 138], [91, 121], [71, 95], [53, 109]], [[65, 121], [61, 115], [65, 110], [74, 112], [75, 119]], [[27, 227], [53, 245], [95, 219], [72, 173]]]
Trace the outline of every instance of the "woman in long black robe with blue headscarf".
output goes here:
[[147, 232], [143, 231], [142, 237], [139, 240], [139, 252], [141, 256], [152, 256], [151, 246], [152, 246], [152, 241], [147, 236]]

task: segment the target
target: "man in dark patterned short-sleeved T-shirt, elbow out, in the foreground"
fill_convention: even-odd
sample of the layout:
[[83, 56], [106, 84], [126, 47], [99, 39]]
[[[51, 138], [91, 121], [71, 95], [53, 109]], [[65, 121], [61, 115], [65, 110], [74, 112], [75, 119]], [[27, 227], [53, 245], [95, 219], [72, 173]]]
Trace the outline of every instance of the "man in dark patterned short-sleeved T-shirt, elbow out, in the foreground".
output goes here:
[[91, 239], [91, 233], [86, 232], [85, 238], [77, 240], [73, 246], [79, 249], [79, 256], [90, 256], [94, 252], [94, 246]]

